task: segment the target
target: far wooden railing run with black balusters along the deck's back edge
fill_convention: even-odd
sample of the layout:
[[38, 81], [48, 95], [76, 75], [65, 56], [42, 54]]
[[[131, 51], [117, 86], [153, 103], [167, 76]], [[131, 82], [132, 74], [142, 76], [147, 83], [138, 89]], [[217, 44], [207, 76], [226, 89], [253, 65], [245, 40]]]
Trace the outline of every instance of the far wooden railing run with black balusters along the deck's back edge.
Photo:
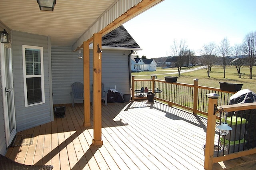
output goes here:
[[[218, 88], [198, 85], [198, 79], [194, 84], [167, 83], [163, 80], [136, 79], [132, 76], [132, 101], [147, 99], [147, 93], [154, 93], [155, 99], [168, 103], [169, 106], [177, 106], [192, 111], [194, 114], [208, 113], [208, 97], [206, 94], [216, 93], [220, 95], [218, 105], [227, 105], [234, 92], [222, 91]], [[144, 89], [144, 91], [143, 91]], [[145, 90], [147, 89], [147, 90]]]

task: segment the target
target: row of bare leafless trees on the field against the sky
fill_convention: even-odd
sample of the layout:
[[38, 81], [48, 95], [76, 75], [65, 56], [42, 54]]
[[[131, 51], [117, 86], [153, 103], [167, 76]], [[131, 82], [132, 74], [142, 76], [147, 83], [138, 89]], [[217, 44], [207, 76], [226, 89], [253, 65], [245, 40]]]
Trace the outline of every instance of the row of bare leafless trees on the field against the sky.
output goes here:
[[[194, 52], [188, 49], [186, 40], [179, 42], [174, 40], [171, 46], [173, 56], [177, 56], [176, 67], [178, 73], [185, 63], [193, 63]], [[256, 64], [256, 32], [250, 32], [244, 36], [241, 44], [231, 46], [228, 39], [224, 38], [219, 45], [214, 42], [204, 44], [200, 53], [200, 62], [205, 65], [207, 76], [210, 77], [212, 66], [218, 64], [223, 67], [223, 77], [225, 78], [226, 67], [234, 65], [240, 75], [241, 68], [245, 65], [250, 69], [250, 79], [252, 79], [252, 67]]]

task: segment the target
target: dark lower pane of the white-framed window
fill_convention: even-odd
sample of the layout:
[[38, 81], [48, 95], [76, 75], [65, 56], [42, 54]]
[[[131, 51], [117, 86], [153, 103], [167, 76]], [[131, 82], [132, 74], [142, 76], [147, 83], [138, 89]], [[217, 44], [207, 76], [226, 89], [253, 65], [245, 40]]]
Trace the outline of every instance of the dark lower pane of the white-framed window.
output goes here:
[[41, 77], [27, 79], [28, 105], [42, 102]]

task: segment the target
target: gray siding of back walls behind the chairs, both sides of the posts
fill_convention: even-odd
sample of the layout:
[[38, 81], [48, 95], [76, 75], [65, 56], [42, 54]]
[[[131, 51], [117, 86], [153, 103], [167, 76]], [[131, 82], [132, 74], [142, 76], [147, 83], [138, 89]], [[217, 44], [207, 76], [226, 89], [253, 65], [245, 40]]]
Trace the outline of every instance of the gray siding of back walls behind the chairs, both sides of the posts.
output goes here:
[[[102, 82], [105, 91], [114, 89], [122, 94], [130, 94], [128, 55], [130, 50], [102, 49]], [[92, 91], [92, 50], [90, 50], [90, 91]], [[52, 46], [52, 91], [54, 104], [71, 102], [71, 85], [83, 83], [83, 59], [78, 59], [78, 51], [71, 46]]]

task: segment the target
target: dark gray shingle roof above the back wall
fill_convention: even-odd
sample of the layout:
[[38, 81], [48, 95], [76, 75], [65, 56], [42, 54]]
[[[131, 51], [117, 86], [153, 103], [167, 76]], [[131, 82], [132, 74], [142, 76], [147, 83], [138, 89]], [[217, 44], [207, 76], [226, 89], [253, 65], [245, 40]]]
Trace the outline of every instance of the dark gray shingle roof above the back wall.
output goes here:
[[103, 36], [102, 46], [140, 48], [124, 26], [120, 26]]

